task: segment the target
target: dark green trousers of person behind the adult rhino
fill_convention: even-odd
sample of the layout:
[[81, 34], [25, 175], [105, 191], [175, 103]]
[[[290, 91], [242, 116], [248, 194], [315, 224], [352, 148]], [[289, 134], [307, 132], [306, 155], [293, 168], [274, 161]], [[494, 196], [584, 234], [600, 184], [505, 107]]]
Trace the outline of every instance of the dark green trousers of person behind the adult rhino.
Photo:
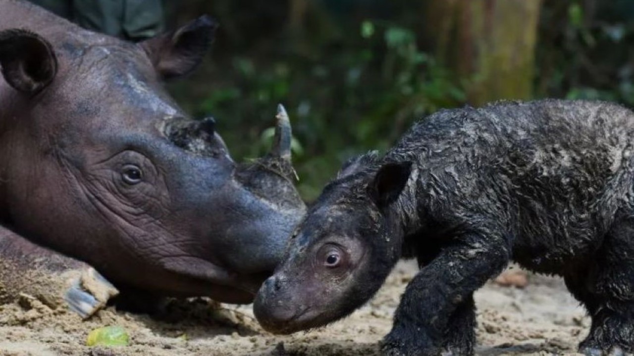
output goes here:
[[162, 0], [29, 0], [85, 29], [141, 41], [165, 29]]

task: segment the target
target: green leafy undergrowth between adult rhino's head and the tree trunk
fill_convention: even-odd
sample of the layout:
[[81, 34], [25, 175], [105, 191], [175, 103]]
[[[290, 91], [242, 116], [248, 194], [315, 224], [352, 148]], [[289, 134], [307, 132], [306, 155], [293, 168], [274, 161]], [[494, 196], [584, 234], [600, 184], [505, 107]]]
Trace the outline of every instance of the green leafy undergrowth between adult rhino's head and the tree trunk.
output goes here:
[[249, 158], [269, 149], [275, 106], [283, 103], [299, 190], [312, 200], [350, 156], [385, 149], [415, 119], [464, 100], [450, 73], [418, 49], [412, 30], [370, 20], [358, 28], [353, 44], [318, 58], [233, 58], [231, 81], [194, 111], [218, 117], [233, 155]]

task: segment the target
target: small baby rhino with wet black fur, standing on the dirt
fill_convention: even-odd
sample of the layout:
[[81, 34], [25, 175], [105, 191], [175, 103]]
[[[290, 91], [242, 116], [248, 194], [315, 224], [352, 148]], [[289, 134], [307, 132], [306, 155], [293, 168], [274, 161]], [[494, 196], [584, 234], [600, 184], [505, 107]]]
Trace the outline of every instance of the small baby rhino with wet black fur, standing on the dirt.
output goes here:
[[634, 113], [600, 102], [443, 110], [382, 158], [344, 165], [256, 298], [269, 331], [353, 312], [400, 257], [407, 286], [385, 355], [473, 353], [474, 291], [510, 260], [563, 276], [592, 327], [586, 355], [634, 352]]

